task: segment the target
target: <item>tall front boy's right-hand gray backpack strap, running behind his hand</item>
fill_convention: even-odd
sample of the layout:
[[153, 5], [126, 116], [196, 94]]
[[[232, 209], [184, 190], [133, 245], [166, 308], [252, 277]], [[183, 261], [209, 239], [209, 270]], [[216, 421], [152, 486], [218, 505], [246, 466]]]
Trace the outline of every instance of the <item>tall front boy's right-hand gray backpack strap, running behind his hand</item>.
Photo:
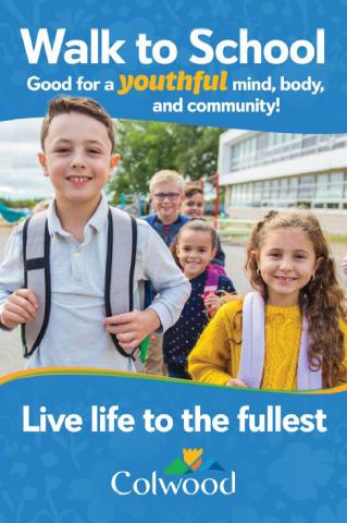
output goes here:
[[[137, 224], [127, 212], [109, 208], [108, 254], [104, 281], [104, 306], [107, 316], [134, 309], [134, 272], [137, 247]], [[123, 349], [116, 336], [111, 335], [122, 356], [131, 357], [137, 372], [144, 372], [139, 348]]]

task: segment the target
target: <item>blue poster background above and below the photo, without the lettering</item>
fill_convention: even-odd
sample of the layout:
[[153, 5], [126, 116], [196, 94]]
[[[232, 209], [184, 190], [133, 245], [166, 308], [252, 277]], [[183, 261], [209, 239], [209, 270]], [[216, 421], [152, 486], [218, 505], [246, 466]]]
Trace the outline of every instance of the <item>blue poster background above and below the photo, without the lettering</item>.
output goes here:
[[[27, 77], [64, 80], [85, 75], [89, 80], [112, 80], [121, 73], [168, 73], [184, 70], [208, 73], [227, 70], [230, 76], [322, 80], [321, 96], [286, 94], [281, 112], [262, 114], [161, 114], [159, 120], [283, 132], [346, 132], [346, 20], [347, 0], [128, 0], [0, 2], [0, 119], [41, 117], [52, 93], [32, 93]], [[27, 63], [20, 27], [54, 31], [66, 27], [66, 37], [86, 38], [90, 27], [110, 28], [114, 39], [126, 39], [122, 52], [125, 65], [66, 66], [64, 63]], [[312, 39], [318, 27], [325, 28], [326, 64], [295, 66], [233, 65], [212, 62], [194, 68], [189, 34], [195, 27], [209, 27], [213, 41], [233, 38], [239, 27], [261, 41], [272, 38], [288, 42]], [[138, 63], [135, 39], [139, 33], [156, 40], [170, 38], [178, 47], [178, 58], [166, 66]], [[136, 93], [125, 97], [114, 93], [69, 93], [91, 95], [116, 118], [154, 120], [154, 100], [175, 101], [184, 94]], [[265, 93], [251, 93], [265, 98]], [[233, 93], [201, 94], [199, 100], [235, 99]], [[247, 99], [245, 95], [244, 99]], [[168, 412], [175, 429], [168, 435], [147, 434], [137, 424], [133, 434], [23, 434], [22, 406], [33, 410], [45, 404], [54, 413], [87, 415], [90, 404], [119, 403], [139, 419], [146, 408]], [[262, 411], [267, 404], [282, 404], [297, 414], [324, 409], [327, 434], [244, 435], [232, 427], [226, 434], [194, 434], [182, 430], [179, 414], [200, 404], [210, 414], [235, 414], [241, 404]], [[0, 523], [12, 522], [247, 522], [247, 523], [345, 523], [347, 516], [347, 424], [346, 392], [333, 396], [295, 396], [236, 391], [139, 378], [101, 376], [50, 376], [15, 380], [0, 389]], [[184, 496], [117, 498], [110, 477], [119, 469], [146, 476], [181, 455], [183, 448], [202, 447], [226, 471], [237, 474], [233, 497]], [[214, 473], [218, 477], [218, 473]]]

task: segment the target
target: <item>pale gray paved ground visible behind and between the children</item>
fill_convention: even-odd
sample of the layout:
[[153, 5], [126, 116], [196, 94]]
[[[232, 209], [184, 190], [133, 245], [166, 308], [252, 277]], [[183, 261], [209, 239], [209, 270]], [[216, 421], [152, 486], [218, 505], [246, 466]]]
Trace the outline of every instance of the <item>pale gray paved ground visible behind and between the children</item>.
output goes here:
[[[0, 262], [3, 258], [3, 252], [7, 239], [11, 228], [0, 227]], [[232, 276], [234, 284], [239, 293], [249, 290], [248, 281], [244, 273], [245, 247], [243, 245], [223, 245], [226, 255], [226, 270]], [[345, 289], [347, 289], [347, 277], [342, 275], [340, 262], [347, 253], [347, 245], [333, 245], [333, 253], [339, 272], [339, 279]], [[0, 330], [0, 376], [24, 368], [24, 358], [22, 356], [21, 331], [20, 328], [12, 332]]]

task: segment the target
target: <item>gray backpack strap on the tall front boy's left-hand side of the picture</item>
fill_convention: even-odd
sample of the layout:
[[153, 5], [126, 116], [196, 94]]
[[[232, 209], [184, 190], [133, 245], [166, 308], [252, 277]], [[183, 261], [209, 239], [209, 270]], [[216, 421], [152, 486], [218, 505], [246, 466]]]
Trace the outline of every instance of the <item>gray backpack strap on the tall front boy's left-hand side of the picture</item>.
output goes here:
[[22, 325], [24, 357], [34, 353], [48, 326], [51, 304], [49, 246], [47, 211], [27, 218], [23, 228], [24, 287], [35, 293], [39, 307], [36, 316]]

